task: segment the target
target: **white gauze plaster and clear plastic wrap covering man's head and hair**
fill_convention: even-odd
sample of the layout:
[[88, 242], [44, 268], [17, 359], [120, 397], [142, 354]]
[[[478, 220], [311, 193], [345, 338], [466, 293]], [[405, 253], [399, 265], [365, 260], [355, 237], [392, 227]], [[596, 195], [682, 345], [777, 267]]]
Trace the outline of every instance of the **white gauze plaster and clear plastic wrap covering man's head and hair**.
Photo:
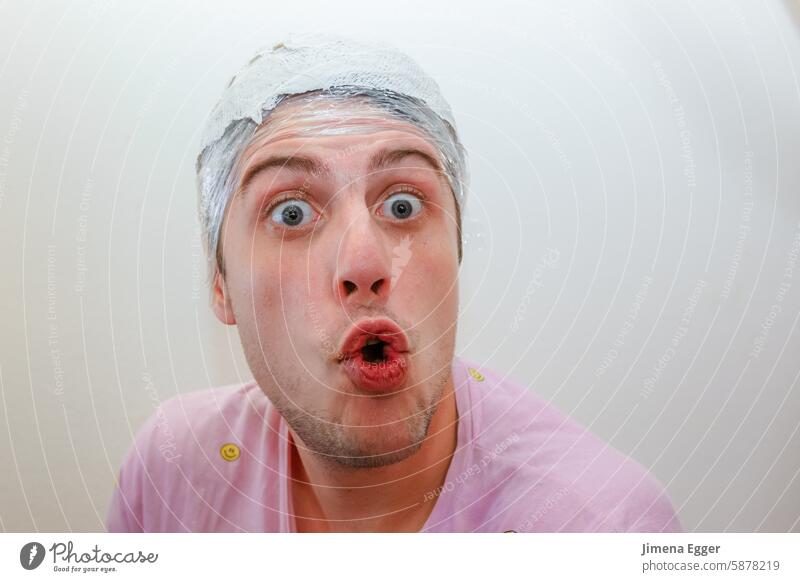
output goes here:
[[[283, 102], [301, 100], [314, 116], [313, 135], [368, 131], [385, 116], [419, 129], [436, 148], [459, 222], [467, 191], [464, 148], [436, 82], [408, 56], [385, 45], [329, 35], [300, 35], [259, 51], [231, 79], [209, 116], [197, 159], [203, 240], [210, 273], [222, 267], [220, 229], [240, 180], [237, 163], [262, 123]], [[326, 109], [326, 102], [353, 107]], [[376, 114], [376, 112], [378, 112]]]

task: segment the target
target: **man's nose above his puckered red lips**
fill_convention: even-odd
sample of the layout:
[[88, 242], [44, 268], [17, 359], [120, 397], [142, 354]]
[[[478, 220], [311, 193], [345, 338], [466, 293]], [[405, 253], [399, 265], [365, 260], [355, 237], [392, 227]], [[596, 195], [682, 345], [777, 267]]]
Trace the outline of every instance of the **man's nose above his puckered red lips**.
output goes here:
[[389, 297], [392, 258], [384, 233], [369, 212], [349, 224], [336, 257], [336, 292], [342, 305], [372, 306]]

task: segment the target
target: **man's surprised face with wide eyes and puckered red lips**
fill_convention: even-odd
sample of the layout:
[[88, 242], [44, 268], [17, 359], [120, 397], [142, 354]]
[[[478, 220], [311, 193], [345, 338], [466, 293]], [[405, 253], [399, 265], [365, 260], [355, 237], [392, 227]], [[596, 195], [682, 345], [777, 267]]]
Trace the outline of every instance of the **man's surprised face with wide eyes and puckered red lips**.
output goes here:
[[[441, 167], [436, 148], [411, 124], [365, 104], [315, 107], [339, 108], [337, 119], [349, 121], [320, 135], [314, 109], [298, 115], [289, 101], [243, 153], [213, 306], [238, 326], [256, 381], [299, 446], [347, 466], [386, 465], [418, 449], [450, 380], [455, 200], [430, 165]], [[394, 383], [381, 384], [386, 375], [377, 372], [376, 388], [341, 350], [379, 340], [359, 331], [378, 318], [402, 336], [394, 346], [384, 336], [384, 353], [406, 341], [407, 351], [386, 356], [402, 367], [399, 383], [389, 371]]]

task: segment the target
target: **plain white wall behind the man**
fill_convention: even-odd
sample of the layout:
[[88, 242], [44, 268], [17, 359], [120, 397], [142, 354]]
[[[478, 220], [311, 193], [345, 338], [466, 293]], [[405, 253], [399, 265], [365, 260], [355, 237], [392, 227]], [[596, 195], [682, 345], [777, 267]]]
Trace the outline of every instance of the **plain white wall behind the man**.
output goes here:
[[651, 468], [687, 530], [800, 531], [797, 10], [376, 4], [0, 8], [0, 529], [102, 529], [157, 402], [249, 378], [206, 304], [198, 131], [256, 47], [333, 30], [455, 110], [459, 353]]

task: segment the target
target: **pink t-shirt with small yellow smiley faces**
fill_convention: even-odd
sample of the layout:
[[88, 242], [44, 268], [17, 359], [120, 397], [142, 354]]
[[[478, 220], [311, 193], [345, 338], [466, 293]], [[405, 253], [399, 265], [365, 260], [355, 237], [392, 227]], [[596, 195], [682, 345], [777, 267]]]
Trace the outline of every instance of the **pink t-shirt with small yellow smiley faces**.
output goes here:
[[[461, 358], [453, 381], [458, 447], [422, 531], [681, 531], [658, 481], [533, 391]], [[122, 464], [108, 531], [295, 531], [290, 446], [255, 382], [172, 398]]]

